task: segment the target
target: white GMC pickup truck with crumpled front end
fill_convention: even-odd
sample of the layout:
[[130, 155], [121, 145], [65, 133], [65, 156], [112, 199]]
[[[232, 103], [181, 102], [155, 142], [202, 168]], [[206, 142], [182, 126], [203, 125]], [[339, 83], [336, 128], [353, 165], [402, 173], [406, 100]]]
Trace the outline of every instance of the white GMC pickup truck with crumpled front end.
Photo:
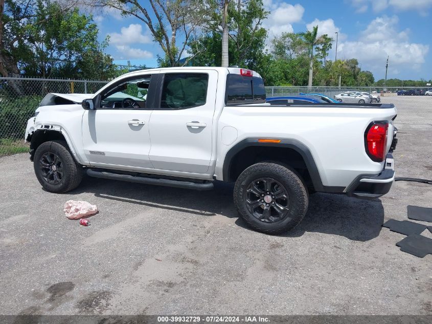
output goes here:
[[251, 70], [127, 73], [96, 94], [48, 94], [28, 121], [30, 159], [52, 192], [76, 188], [84, 172], [198, 190], [235, 182], [241, 217], [265, 233], [299, 224], [309, 192], [374, 198], [390, 190], [393, 104], [265, 99]]

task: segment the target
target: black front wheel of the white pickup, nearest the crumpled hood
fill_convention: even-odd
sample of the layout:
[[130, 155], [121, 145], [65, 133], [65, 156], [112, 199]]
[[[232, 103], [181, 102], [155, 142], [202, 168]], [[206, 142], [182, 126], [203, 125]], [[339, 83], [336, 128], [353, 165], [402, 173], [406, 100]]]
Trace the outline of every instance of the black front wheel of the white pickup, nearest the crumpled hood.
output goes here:
[[72, 157], [65, 141], [40, 144], [34, 155], [33, 168], [39, 183], [50, 192], [71, 191], [82, 180], [82, 166]]

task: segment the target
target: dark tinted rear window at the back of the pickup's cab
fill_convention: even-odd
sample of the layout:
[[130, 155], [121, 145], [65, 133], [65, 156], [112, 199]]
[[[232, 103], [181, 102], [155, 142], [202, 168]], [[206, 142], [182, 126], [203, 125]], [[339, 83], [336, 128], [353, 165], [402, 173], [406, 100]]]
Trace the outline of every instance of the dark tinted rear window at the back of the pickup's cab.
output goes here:
[[230, 73], [226, 76], [225, 104], [265, 103], [262, 78]]

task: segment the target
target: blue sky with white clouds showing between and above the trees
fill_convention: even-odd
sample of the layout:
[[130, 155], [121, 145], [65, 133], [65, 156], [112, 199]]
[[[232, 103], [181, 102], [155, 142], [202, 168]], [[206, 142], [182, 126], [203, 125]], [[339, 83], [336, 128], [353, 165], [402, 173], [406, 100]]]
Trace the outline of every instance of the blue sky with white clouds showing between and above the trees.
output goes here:
[[[263, 0], [270, 12], [263, 26], [268, 40], [282, 32], [301, 32], [318, 25], [320, 34], [334, 38], [329, 58], [357, 58], [362, 70], [375, 80], [384, 78], [432, 79], [432, 0]], [[142, 4], [150, 8], [147, 1]], [[151, 10], [150, 10], [151, 11]], [[117, 64], [156, 67], [163, 55], [147, 26], [116, 10], [94, 15], [100, 38], [110, 36], [107, 52]]]

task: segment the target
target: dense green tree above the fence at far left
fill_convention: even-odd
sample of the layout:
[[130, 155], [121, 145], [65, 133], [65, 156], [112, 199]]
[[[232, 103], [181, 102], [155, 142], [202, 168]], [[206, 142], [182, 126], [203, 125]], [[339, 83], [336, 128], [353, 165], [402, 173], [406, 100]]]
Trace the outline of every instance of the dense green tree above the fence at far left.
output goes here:
[[[1, 1], [1, 0], [0, 0]], [[92, 16], [50, 0], [6, 0], [3, 75], [108, 79], [117, 72]], [[2, 60], [4, 62], [4, 60]], [[0, 64], [1, 65], [1, 64]]]

